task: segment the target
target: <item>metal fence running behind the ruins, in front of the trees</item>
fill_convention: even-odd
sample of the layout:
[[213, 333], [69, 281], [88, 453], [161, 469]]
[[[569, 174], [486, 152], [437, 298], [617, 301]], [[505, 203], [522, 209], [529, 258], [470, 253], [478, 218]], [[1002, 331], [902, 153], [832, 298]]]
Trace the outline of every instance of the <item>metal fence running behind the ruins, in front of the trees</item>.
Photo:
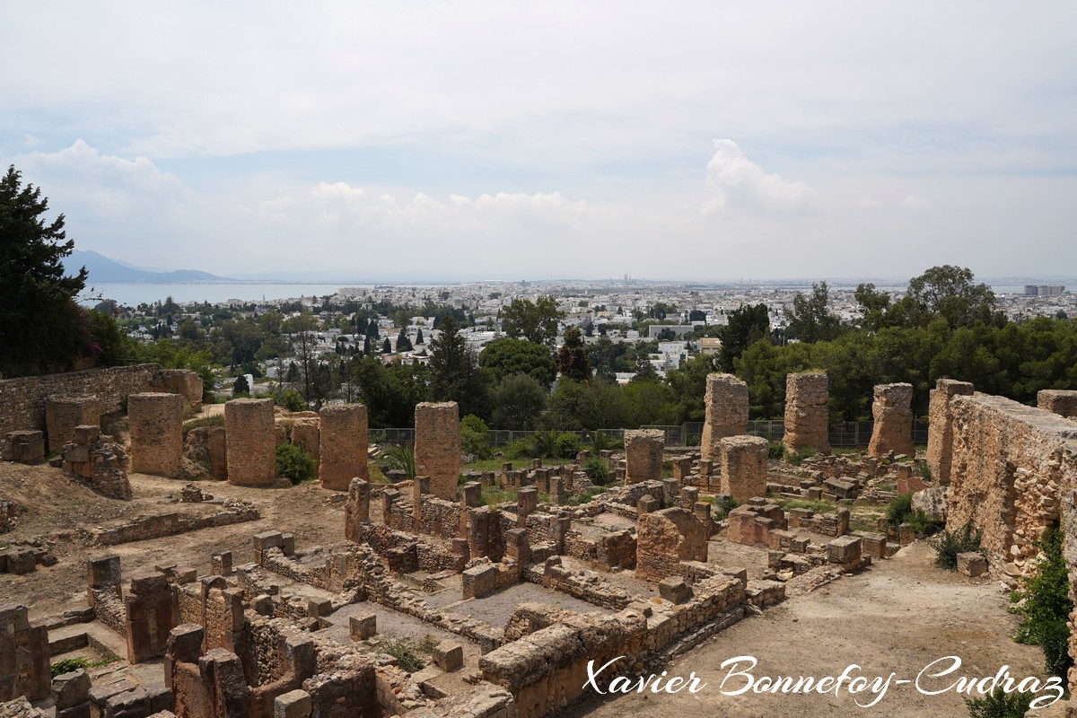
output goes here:
[[[844, 421], [830, 425], [831, 447], [866, 447], [871, 439], [871, 430], [875, 422], [870, 421]], [[647, 425], [640, 428], [657, 428], [666, 434], [666, 446], [668, 447], [698, 447], [703, 435], [702, 422], [686, 422], [680, 425]], [[624, 428], [600, 428], [601, 433], [618, 441], [625, 439]], [[513, 441], [529, 439], [540, 432], [513, 432], [507, 430], [490, 430], [490, 446], [504, 447]], [[565, 431], [561, 434], [575, 435], [581, 444], [589, 442], [588, 432]], [[761, 436], [769, 441], [779, 441], [785, 435], [785, 422], [781, 420], [753, 419], [747, 422], [747, 433], [752, 436]], [[375, 444], [414, 444], [414, 428], [372, 428], [370, 441]], [[912, 442], [927, 444], [927, 423], [912, 420]]]

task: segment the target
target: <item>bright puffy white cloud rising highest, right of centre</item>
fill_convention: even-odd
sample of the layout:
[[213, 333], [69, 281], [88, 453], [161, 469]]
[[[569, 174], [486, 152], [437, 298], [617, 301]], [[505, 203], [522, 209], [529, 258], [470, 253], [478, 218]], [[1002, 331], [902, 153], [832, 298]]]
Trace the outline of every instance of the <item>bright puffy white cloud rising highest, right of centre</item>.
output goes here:
[[803, 182], [786, 182], [750, 160], [732, 140], [714, 140], [707, 179], [715, 195], [704, 210], [725, 208], [773, 213], [813, 209], [814, 192]]

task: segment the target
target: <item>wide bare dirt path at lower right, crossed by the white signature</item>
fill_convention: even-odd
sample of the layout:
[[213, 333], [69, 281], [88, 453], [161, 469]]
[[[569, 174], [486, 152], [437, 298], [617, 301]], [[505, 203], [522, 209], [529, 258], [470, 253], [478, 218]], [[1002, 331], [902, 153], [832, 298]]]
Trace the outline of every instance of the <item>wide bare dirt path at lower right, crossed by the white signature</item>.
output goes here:
[[[1016, 622], [1007, 614], [1007, 594], [998, 585], [937, 569], [934, 552], [923, 543], [857, 576], [844, 577], [812, 593], [787, 600], [763, 616], [741, 621], [667, 667], [668, 676], [691, 672], [708, 685], [695, 694], [629, 694], [589, 701], [567, 716], [730, 716], [800, 718], [802, 716], [967, 716], [954, 692], [922, 695], [914, 685], [892, 684], [873, 707], [858, 707], [847, 693], [723, 695], [729, 668], [739, 656], [758, 660], [752, 674], [761, 676], [838, 676], [858, 664], [869, 678], [917, 678], [933, 661], [957, 656], [962, 666], [948, 679], [924, 680], [926, 689], [950, 685], [957, 676], [993, 676], [1002, 665], [1020, 677], [1041, 676], [1038, 648], [1009, 639]], [[742, 667], [747, 667], [747, 663]], [[729, 678], [725, 690], [744, 685]], [[862, 693], [861, 702], [870, 702]], [[1036, 715], [1036, 714], [1030, 714]]]

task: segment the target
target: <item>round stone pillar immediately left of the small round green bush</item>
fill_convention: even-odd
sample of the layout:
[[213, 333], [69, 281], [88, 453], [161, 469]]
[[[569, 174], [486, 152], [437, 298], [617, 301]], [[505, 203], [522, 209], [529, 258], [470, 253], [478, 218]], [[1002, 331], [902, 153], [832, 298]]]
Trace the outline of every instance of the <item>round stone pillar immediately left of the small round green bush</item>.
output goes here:
[[228, 483], [271, 487], [277, 482], [272, 399], [232, 399], [224, 405]]

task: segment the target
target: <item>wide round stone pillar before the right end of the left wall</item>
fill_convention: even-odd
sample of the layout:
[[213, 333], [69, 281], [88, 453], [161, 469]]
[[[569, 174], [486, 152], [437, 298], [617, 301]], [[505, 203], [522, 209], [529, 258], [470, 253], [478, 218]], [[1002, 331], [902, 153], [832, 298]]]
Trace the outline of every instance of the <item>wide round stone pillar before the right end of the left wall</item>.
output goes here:
[[179, 476], [183, 469], [183, 397], [129, 394], [131, 471]]

